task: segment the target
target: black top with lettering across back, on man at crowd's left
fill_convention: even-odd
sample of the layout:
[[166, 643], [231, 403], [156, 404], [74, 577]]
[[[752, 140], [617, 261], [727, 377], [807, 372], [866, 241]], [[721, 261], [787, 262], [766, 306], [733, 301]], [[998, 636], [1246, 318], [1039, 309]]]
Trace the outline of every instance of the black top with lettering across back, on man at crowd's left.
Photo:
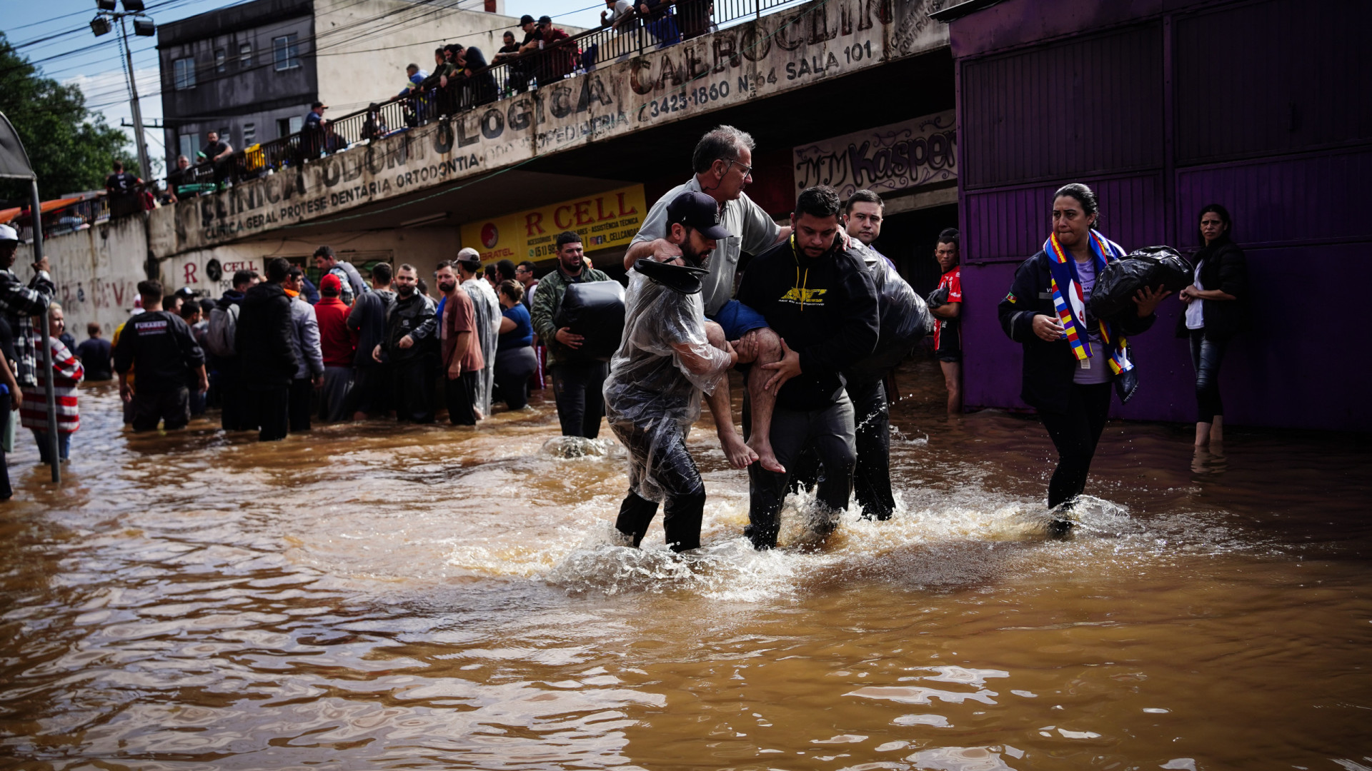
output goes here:
[[166, 310], [134, 316], [119, 333], [114, 350], [114, 369], [139, 376], [137, 387], [148, 394], [162, 394], [185, 387], [187, 370], [204, 364], [204, 353], [181, 317]]

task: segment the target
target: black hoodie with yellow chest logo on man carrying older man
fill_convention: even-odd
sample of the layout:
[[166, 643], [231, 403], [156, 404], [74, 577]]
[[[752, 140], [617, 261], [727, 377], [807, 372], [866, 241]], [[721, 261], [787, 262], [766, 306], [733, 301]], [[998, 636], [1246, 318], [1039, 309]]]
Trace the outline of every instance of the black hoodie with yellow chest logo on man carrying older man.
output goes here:
[[877, 287], [862, 254], [837, 240], [819, 259], [790, 244], [753, 258], [737, 299], [763, 314], [800, 354], [800, 375], [782, 386], [777, 402], [793, 410], [823, 409], [842, 395], [842, 370], [877, 347]]

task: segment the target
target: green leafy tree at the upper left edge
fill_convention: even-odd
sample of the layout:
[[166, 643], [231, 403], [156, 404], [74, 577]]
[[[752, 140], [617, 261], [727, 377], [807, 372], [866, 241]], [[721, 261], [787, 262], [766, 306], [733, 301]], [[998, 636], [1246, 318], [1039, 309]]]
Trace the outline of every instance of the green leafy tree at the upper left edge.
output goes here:
[[[44, 78], [0, 33], [0, 112], [14, 123], [38, 173], [44, 200], [62, 193], [104, 189], [110, 165], [136, 170], [129, 137], [86, 110], [75, 86]], [[29, 182], [0, 180], [0, 198], [29, 200]]]

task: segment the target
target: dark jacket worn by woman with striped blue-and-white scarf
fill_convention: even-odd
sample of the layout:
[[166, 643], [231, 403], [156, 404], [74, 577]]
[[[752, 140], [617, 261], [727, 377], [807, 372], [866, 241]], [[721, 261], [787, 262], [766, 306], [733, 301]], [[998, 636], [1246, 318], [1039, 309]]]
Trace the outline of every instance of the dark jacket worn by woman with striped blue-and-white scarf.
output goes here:
[[[1063, 413], [1069, 406], [1072, 377], [1078, 366], [1077, 357], [1073, 355], [1067, 340], [1050, 343], [1033, 333], [1034, 316], [1041, 313], [1058, 318], [1052, 307], [1052, 273], [1048, 270], [1048, 255], [1040, 251], [1024, 261], [1015, 270], [1010, 294], [1000, 300], [996, 311], [1000, 316], [1000, 328], [1025, 350], [1019, 398], [1041, 412]], [[1131, 305], [1128, 310], [1107, 321], [1114, 324], [1121, 335], [1129, 337], [1148, 331], [1157, 316], [1139, 318]], [[1103, 351], [1093, 353], [1092, 366], [1109, 366], [1106, 355], [1102, 355]]]

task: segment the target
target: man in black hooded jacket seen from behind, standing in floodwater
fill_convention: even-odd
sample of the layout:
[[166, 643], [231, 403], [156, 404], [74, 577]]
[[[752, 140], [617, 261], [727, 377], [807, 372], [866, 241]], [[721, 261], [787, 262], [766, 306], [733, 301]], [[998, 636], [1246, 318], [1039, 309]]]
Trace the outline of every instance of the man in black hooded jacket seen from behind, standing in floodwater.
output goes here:
[[291, 263], [280, 257], [266, 263], [266, 281], [243, 295], [235, 348], [241, 364], [241, 384], [248, 403], [254, 407], [258, 439], [274, 442], [285, 439], [289, 428], [291, 381], [295, 380], [298, 361], [291, 347], [291, 298], [281, 283]]

